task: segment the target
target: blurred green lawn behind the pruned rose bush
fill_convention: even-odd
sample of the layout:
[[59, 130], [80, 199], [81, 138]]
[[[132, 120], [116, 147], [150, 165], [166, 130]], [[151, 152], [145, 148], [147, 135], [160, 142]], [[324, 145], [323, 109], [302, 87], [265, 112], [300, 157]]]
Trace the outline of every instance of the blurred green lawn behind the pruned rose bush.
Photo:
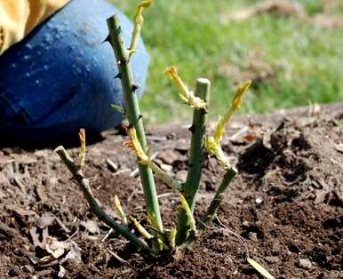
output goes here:
[[[131, 18], [140, 2], [112, 1]], [[323, 28], [312, 21], [322, 13], [329, 20], [343, 19], [343, 1], [298, 1], [307, 20], [270, 12], [231, 20], [232, 12], [261, 2], [156, 0], [145, 12], [142, 31], [151, 55], [141, 101], [149, 122], [189, 119], [190, 110], [163, 74], [170, 65], [177, 66], [191, 88], [196, 77], [211, 80], [212, 118], [225, 111], [235, 85], [246, 78], [254, 85], [243, 113], [343, 100], [343, 28]]]

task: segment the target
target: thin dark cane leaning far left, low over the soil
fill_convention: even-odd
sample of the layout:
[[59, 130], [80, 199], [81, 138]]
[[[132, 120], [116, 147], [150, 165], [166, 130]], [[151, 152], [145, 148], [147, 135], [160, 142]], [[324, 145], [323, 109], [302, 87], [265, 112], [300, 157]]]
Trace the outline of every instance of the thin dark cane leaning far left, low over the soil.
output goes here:
[[78, 186], [84, 193], [92, 212], [108, 227], [113, 228], [118, 234], [123, 235], [128, 239], [139, 251], [144, 251], [150, 256], [156, 256], [156, 251], [150, 249], [146, 243], [143, 243], [139, 237], [132, 234], [128, 227], [124, 227], [118, 224], [112, 217], [110, 217], [100, 206], [96, 198], [92, 193], [89, 180], [84, 177], [83, 171], [76, 165], [74, 160], [68, 155], [67, 150], [64, 147], [57, 147], [55, 152], [60, 156], [63, 163], [66, 164], [68, 170], [72, 173], [73, 178], [76, 179]]

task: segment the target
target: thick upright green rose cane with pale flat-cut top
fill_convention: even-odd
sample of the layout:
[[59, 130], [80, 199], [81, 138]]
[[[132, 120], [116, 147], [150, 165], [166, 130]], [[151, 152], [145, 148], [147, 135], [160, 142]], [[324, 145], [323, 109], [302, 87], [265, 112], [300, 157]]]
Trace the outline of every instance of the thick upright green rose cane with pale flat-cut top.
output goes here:
[[[211, 82], [205, 78], [199, 78], [196, 84], [195, 96], [204, 100], [208, 106], [210, 99]], [[203, 159], [204, 159], [204, 133], [206, 130], [207, 112], [206, 108], [195, 109], [193, 114], [193, 124], [190, 128], [192, 132], [190, 155], [189, 155], [189, 171], [185, 188], [182, 193], [186, 198], [190, 211], [193, 214], [195, 208], [195, 195], [200, 186], [202, 175]], [[179, 209], [179, 218], [176, 234], [176, 244], [180, 245], [187, 240], [190, 227], [187, 225], [187, 212], [182, 208]]]

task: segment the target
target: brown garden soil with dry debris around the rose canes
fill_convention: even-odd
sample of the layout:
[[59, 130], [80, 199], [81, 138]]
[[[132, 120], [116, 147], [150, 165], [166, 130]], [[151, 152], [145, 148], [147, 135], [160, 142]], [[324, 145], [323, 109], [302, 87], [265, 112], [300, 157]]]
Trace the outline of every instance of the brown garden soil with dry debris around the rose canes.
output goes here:
[[[275, 278], [342, 278], [342, 108], [235, 118], [224, 149], [240, 175], [218, 219], [192, 247], [157, 262], [143, 259], [117, 235], [102, 241], [108, 227], [93, 222], [83, 195], [52, 149], [3, 147], [0, 278], [260, 278], [246, 261], [248, 252]], [[188, 139], [187, 125], [149, 130], [156, 162], [172, 168], [179, 179], [187, 170]], [[135, 157], [122, 146], [124, 140], [109, 132], [89, 146], [85, 173], [108, 212], [116, 216], [116, 194], [125, 211], [142, 219], [140, 179], [130, 176]], [[215, 160], [206, 161], [197, 216], [211, 202], [222, 175]], [[170, 227], [177, 195], [161, 183], [157, 187], [164, 225]], [[49, 239], [67, 243], [58, 259], [47, 250]]]

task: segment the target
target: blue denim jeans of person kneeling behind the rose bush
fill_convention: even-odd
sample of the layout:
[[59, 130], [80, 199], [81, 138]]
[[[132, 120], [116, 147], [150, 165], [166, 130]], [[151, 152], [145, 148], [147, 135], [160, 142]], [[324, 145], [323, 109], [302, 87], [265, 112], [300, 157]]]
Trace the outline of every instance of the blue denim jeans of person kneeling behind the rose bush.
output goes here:
[[[128, 45], [132, 23], [105, 0], [72, 0], [0, 56], [0, 129], [20, 140], [77, 137], [79, 128], [101, 132], [124, 106], [107, 18], [119, 14]], [[148, 54], [140, 41], [133, 75], [143, 91]]]

